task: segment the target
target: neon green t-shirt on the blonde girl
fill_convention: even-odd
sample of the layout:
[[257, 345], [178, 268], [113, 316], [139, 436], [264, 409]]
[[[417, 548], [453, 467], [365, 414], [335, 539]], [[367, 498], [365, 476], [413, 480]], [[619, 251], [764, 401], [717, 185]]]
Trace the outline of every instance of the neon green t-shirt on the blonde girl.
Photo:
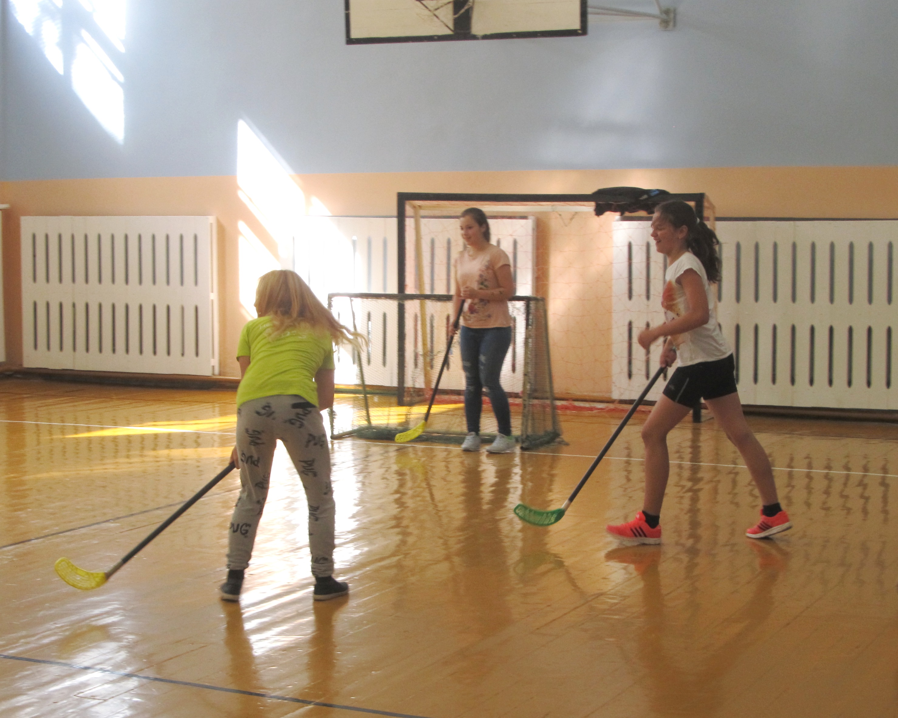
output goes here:
[[252, 399], [278, 394], [299, 394], [318, 406], [315, 374], [334, 368], [333, 342], [323, 331], [298, 329], [271, 340], [271, 317], [260, 316], [243, 326], [237, 356], [249, 357], [250, 366], [237, 387], [237, 406]]

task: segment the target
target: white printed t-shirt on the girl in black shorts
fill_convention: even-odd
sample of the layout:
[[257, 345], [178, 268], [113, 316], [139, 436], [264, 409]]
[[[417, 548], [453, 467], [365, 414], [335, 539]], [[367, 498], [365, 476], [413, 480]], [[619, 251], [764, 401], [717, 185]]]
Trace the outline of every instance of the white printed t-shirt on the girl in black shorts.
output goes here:
[[665, 272], [665, 290], [661, 295], [661, 306], [665, 309], [665, 319], [670, 322], [678, 316], [689, 311], [689, 301], [686, 292], [680, 284], [680, 277], [686, 270], [695, 270], [701, 278], [701, 286], [705, 288], [705, 296], [708, 297], [708, 322], [696, 327], [691, 332], [672, 334], [671, 340], [677, 350], [677, 359], [681, 367], [698, 364], [700, 361], [715, 361], [725, 359], [733, 350], [724, 339], [724, 333], [720, 331], [718, 324], [717, 298], [708, 281], [708, 273], [701, 261], [691, 252], [671, 263]]

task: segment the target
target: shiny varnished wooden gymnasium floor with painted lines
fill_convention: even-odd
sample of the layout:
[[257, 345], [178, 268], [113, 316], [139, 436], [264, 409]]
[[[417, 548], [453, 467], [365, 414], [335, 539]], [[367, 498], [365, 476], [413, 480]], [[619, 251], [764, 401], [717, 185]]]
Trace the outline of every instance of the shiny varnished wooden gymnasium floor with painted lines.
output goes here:
[[[714, 421], [683, 423], [660, 547], [620, 547], [640, 506], [637, 417], [489, 457], [335, 442], [339, 576], [313, 604], [305, 500], [283, 453], [242, 604], [217, 597], [229, 476], [107, 585], [102, 570], [225, 465], [233, 393], [0, 380], [0, 715], [898, 715], [898, 428], [753, 419], [795, 529], [744, 537], [758, 500]], [[898, 517], [896, 517], [898, 519]]]

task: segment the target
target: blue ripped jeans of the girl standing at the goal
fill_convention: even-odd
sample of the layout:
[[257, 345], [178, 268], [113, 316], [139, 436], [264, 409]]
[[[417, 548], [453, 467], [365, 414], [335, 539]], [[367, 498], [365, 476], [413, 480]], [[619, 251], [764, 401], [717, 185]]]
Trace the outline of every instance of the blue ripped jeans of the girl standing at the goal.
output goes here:
[[483, 389], [487, 390], [500, 434], [511, 436], [511, 411], [508, 397], [499, 384], [502, 364], [511, 346], [511, 327], [471, 329], [462, 326], [459, 332], [464, 369], [464, 418], [468, 431], [480, 433], [480, 412], [483, 409]]

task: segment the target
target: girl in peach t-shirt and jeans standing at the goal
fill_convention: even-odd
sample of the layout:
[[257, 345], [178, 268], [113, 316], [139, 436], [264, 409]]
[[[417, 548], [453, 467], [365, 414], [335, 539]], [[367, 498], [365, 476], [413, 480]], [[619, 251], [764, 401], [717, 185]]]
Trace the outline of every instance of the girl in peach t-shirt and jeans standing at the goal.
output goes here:
[[465, 303], [459, 343], [468, 436], [462, 449], [480, 450], [480, 412], [485, 388], [498, 424], [496, 440], [487, 451], [504, 454], [515, 448], [508, 397], [499, 383], [502, 364], [511, 346], [508, 299], [515, 294], [515, 280], [508, 255], [489, 243], [489, 220], [483, 210], [465, 209], [459, 222], [466, 246], [455, 258], [453, 306], [457, 313], [462, 302]]

